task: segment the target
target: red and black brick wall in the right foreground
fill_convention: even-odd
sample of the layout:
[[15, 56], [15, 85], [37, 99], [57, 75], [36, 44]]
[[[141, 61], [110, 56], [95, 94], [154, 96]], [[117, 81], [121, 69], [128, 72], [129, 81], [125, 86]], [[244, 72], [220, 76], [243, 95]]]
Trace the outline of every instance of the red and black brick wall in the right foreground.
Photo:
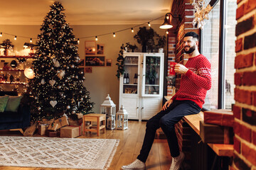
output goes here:
[[230, 169], [256, 169], [256, 1], [238, 0], [235, 28], [234, 159]]

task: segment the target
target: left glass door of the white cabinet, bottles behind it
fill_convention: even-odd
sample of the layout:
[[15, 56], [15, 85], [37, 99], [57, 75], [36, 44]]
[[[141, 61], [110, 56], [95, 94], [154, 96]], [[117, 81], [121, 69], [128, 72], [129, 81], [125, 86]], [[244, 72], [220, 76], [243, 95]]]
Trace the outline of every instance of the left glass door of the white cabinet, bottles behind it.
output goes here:
[[139, 94], [139, 55], [124, 56], [123, 94]]

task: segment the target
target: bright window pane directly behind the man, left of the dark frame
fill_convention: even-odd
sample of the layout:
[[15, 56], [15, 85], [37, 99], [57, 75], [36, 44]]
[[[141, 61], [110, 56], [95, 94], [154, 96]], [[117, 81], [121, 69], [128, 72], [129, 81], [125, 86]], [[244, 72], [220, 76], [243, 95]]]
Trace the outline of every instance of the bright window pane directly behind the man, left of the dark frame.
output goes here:
[[220, 32], [220, 1], [209, 13], [209, 20], [202, 30], [202, 53], [211, 64], [212, 87], [206, 95], [206, 103], [203, 108], [218, 108], [218, 56], [219, 56], [219, 32]]

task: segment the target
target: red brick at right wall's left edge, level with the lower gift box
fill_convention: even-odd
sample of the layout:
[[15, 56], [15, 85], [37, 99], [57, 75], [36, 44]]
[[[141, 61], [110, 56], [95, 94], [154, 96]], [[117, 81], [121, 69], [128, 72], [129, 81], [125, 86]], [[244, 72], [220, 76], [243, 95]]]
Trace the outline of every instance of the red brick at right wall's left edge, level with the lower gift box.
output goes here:
[[242, 139], [251, 142], [251, 129], [247, 128], [245, 125], [241, 125], [240, 123], [235, 122], [234, 132], [236, 135], [242, 137]]

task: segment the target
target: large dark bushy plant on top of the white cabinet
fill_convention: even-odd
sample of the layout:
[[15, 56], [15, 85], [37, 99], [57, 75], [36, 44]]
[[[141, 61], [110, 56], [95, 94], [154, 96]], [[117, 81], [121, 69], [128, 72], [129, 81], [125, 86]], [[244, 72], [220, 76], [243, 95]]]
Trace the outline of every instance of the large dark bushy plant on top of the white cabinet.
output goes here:
[[146, 27], [140, 27], [137, 35], [134, 35], [134, 38], [137, 39], [137, 42], [142, 45], [142, 52], [146, 52], [146, 48], [148, 47], [149, 50], [153, 50], [155, 43], [154, 43], [154, 36], [157, 33], [154, 31], [153, 28], [146, 29]]

